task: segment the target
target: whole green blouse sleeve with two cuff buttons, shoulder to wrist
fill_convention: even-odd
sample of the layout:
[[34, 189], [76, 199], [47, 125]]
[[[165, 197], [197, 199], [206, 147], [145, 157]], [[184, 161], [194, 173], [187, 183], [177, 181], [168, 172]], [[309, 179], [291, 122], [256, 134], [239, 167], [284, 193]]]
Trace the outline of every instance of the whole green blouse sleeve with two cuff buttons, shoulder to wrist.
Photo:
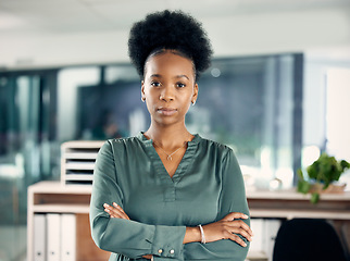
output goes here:
[[123, 192], [116, 182], [114, 154], [110, 141], [100, 149], [93, 172], [90, 226], [96, 245], [107, 251], [136, 259], [153, 254], [154, 260], [183, 260], [185, 226], [148, 225], [110, 219], [103, 203], [123, 208]]

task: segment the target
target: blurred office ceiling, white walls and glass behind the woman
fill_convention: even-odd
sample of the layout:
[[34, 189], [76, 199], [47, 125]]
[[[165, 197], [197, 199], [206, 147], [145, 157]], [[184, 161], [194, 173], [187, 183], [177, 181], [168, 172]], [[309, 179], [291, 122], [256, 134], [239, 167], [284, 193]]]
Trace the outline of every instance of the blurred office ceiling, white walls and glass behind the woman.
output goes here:
[[146, 130], [127, 37], [163, 9], [208, 30], [187, 124], [232, 146], [251, 187], [291, 188], [322, 151], [350, 160], [348, 0], [0, 0], [0, 261], [25, 259], [26, 189], [60, 179], [62, 142]]

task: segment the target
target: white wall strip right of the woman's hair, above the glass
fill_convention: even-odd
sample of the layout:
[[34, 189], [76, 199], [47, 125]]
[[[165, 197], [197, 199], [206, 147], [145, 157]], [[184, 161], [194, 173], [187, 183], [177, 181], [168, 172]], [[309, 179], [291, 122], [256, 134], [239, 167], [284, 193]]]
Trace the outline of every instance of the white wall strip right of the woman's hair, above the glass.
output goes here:
[[304, 51], [350, 45], [350, 15], [337, 9], [223, 17], [207, 26], [216, 55]]

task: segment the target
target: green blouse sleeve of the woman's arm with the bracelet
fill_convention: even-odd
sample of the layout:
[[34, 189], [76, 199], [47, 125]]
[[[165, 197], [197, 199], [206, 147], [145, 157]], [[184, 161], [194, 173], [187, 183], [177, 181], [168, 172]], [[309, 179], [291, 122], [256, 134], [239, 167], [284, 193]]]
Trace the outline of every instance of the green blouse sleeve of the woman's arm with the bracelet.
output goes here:
[[[216, 221], [222, 220], [230, 212], [241, 212], [250, 216], [242, 174], [232, 149], [222, 161], [222, 191]], [[250, 217], [243, 222], [250, 226]], [[205, 245], [191, 243], [185, 246], [185, 259], [243, 261], [248, 253], [249, 241], [243, 236], [238, 236], [243, 239], [247, 247], [241, 247], [229, 239]], [[192, 257], [193, 253], [196, 257]]]

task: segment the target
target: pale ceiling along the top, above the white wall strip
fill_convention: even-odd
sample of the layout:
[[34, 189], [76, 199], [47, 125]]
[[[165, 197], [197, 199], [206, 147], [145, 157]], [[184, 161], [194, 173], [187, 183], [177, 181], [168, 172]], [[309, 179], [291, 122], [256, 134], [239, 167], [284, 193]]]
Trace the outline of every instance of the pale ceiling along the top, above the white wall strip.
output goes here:
[[0, 35], [124, 30], [145, 14], [182, 9], [200, 21], [329, 8], [349, 0], [0, 0]]

